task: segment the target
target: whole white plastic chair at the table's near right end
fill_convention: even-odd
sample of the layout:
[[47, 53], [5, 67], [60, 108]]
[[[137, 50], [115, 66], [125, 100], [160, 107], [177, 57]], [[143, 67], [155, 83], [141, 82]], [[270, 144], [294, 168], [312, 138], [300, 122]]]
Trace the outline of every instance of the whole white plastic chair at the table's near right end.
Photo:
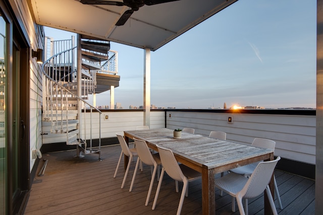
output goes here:
[[[277, 157], [274, 161], [260, 162], [249, 178], [230, 172], [224, 177], [217, 178], [215, 180], [215, 185], [217, 188], [233, 196], [233, 198], [237, 198], [240, 214], [243, 215], [248, 214], [248, 198], [257, 197], [266, 190], [272, 211], [274, 214], [277, 214], [275, 202], [268, 183], [270, 182], [276, 164], [280, 159], [280, 157]], [[242, 198], [245, 199], [245, 208], [243, 208], [242, 205]]]

